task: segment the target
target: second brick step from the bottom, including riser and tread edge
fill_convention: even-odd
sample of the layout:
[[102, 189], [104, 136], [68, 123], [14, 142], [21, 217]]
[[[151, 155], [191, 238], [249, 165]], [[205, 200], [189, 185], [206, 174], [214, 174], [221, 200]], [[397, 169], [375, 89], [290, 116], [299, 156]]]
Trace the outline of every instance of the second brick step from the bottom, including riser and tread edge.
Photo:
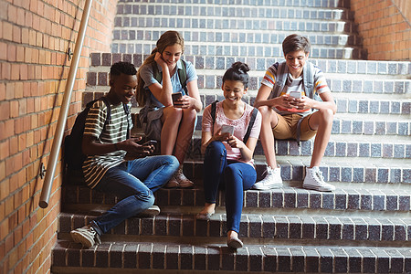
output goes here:
[[[84, 227], [90, 220], [100, 216], [100, 212], [82, 211], [60, 213], [58, 217], [58, 235], [69, 238], [69, 232], [78, 227]], [[109, 209], [109, 208], [107, 208]], [[134, 216], [113, 228], [107, 235], [111, 240], [133, 241], [133, 237], [162, 237], [159, 241], [167, 241], [167, 237], [191, 237], [193, 243], [196, 237], [209, 237], [209, 244], [219, 244], [227, 231], [227, 217], [224, 208], [217, 209], [210, 220], [196, 220], [195, 212], [191, 214], [161, 213], [155, 217]], [[277, 239], [304, 240], [311, 245], [320, 245], [321, 241], [331, 241], [330, 246], [339, 246], [354, 241], [356, 246], [363, 244], [384, 244], [387, 247], [411, 248], [411, 217], [408, 216], [329, 216], [311, 213], [310, 216], [294, 214], [243, 213], [238, 234], [242, 240], [259, 239], [263, 245], [275, 245]], [[104, 235], [105, 236], [105, 235]], [[104, 236], [102, 240], [104, 239]], [[119, 237], [124, 236], [124, 237]], [[216, 237], [216, 238], [213, 238]], [[184, 242], [184, 239], [182, 239]], [[353, 243], [353, 242], [352, 242]]]

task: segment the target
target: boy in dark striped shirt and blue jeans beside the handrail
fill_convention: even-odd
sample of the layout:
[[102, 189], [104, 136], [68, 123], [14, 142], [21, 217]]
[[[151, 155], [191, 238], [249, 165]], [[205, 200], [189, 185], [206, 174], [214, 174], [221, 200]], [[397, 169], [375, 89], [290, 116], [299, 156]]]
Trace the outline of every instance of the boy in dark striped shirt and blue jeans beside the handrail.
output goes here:
[[[90, 248], [100, 236], [130, 216], [150, 208], [153, 215], [160, 213], [153, 205], [153, 192], [161, 188], [178, 168], [174, 156], [151, 156], [153, 147], [137, 144], [141, 138], [131, 138], [132, 118], [128, 114], [137, 87], [134, 66], [127, 62], [115, 63], [110, 70], [111, 89], [106, 99], [111, 105], [111, 119], [105, 125], [107, 107], [102, 100], [90, 108], [83, 134], [82, 150], [89, 155], [83, 173], [90, 188], [118, 195], [121, 201], [86, 227], [71, 231], [75, 242]], [[124, 161], [124, 156], [139, 158]], [[140, 158], [144, 157], [144, 158]]]

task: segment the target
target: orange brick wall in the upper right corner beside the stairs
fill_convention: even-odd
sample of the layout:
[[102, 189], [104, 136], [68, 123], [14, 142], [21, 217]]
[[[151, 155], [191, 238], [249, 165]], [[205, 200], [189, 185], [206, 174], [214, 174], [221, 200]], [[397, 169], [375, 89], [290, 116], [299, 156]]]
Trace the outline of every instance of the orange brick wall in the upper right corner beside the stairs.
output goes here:
[[351, 1], [370, 60], [411, 59], [411, 1]]

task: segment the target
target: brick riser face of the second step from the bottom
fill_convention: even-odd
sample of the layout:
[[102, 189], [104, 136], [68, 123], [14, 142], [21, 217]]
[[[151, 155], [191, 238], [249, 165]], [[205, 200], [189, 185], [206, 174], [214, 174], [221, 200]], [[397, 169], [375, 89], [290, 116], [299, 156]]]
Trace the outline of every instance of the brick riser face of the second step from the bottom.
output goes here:
[[[59, 233], [89, 224], [94, 216], [59, 216]], [[333, 218], [298, 216], [243, 216], [239, 237], [260, 238], [275, 245], [276, 239], [301, 239], [320, 244], [321, 240], [360, 242], [393, 242], [404, 245], [410, 240], [410, 219], [397, 223], [379, 223], [374, 218]], [[111, 234], [153, 237], [226, 237], [226, 216], [213, 216], [210, 221], [195, 220], [195, 216], [160, 215], [151, 218], [132, 217], [112, 229]], [[110, 232], [108, 233], [110, 234]]]

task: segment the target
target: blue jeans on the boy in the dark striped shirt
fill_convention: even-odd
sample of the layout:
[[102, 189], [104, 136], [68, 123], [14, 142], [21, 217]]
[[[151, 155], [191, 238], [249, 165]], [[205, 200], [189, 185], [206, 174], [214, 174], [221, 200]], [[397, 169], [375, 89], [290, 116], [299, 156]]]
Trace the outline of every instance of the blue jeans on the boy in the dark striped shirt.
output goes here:
[[154, 195], [178, 169], [174, 156], [151, 156], [120, 163], [109, 169], [95, 189], [118, 195], [121, 201], [91, 226], [102, 235], [125, 219], [137, 215], [154, 204]]

